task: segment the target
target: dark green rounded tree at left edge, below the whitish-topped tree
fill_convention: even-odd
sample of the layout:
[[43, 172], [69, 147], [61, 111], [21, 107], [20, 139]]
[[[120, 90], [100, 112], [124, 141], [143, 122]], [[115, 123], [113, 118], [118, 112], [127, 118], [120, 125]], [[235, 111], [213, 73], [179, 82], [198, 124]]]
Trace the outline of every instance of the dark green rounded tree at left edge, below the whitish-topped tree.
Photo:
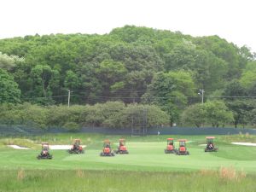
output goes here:
[[0, 68], [0, 103], [20, 102], [20, 90], [12, 75]]

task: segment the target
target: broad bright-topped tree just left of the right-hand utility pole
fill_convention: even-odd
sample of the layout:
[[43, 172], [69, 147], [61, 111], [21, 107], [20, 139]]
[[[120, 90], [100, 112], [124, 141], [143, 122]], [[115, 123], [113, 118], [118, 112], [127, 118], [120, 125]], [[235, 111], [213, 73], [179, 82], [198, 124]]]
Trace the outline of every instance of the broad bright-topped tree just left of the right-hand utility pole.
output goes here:
[[174, 123], [186, 107], [188, 96], [195, 95], [194, 89], [195, 84], [189, 72], [156, 73], [143, 100], [159, 105], [170, 115], [171, 123]]

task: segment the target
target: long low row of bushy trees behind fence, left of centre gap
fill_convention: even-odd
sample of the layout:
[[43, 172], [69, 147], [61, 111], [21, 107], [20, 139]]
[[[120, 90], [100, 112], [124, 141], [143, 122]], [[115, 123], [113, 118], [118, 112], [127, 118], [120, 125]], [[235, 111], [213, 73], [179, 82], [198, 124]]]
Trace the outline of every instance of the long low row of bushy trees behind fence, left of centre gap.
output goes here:
[[[144, 116], [144, 117], [143, 117]], [[147, 122], [143, 122], [147, 118]], [[0, 122], [5, 125], [33, 125], [42, 129], [53, 127], [77, 131], [83, 126], [141, 128], [169, 125], [168, 114], [154, 105], [105, 102], [96, 105], [38, 106], [31, 103], [2, 104]]]

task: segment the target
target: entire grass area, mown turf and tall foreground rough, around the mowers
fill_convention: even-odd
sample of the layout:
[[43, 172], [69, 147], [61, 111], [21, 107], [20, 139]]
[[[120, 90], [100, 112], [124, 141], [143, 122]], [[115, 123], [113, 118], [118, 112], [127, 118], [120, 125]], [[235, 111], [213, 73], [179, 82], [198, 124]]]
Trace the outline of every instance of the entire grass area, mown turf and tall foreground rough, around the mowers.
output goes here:
[[[40, 148], [0, 148], [0, 191], [254, 191], [256, 147], [217, 139], [219, 151], [205, 153], [204, 136], [185, 137], [190, 155], [164, 154], [166, 137], [126, 137], [130, 154], [101, 157], [104, 136], [81, 136], [85, 154], [51, 150], [53, 160], [37, 160]], [[67, 144], [69, 136], [49, 137]], [[118, 136], [108, 137], [116, 148]], [[38, 143], [38, 138], [33, 138]], [[177, 147], [177, 143], [176, 143]], [[223, 171], [224, 169], [224, 171]], [[227, 170], [226, 170], [227, 169]], [[21, 175], [21, 176], [20, 176]], [[37, 189], [38, 184], [44, 188]], [[75, 183], [75, 184], [74, 184]], [[69, 189], [69, 184], [75, 185]], [[137, 185], [137, 187], [135, 187]], [[139, 186], [140, 185], [140, 186]], [[243, 186], [242, 186], [243, 185]], [[66, 187], [65, 187], [66, 186]], [[124, 188], [125, 186], [125, 188]], [[19, 189], [19, 190], [18, 190]]]

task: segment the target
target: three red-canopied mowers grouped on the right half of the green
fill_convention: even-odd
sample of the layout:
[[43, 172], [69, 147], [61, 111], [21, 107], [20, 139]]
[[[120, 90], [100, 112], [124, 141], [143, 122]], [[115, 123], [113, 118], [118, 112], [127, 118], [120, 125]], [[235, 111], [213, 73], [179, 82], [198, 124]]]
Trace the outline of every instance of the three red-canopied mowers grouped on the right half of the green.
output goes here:
[[[207, 138], [207, 148], [205, 152], [217, 152], [218, 148], [214, 145], [213, 139], [215, 137], [206, 137]], [[166, 154], [177, 154], [177, 155], [189, 155], [189, 151], [186, 148], [186, 139], [178, 139], [179, 147], [176, 149], [174, 145], [173, 138], [167, 138], [167, 146], [165, 149]]]

